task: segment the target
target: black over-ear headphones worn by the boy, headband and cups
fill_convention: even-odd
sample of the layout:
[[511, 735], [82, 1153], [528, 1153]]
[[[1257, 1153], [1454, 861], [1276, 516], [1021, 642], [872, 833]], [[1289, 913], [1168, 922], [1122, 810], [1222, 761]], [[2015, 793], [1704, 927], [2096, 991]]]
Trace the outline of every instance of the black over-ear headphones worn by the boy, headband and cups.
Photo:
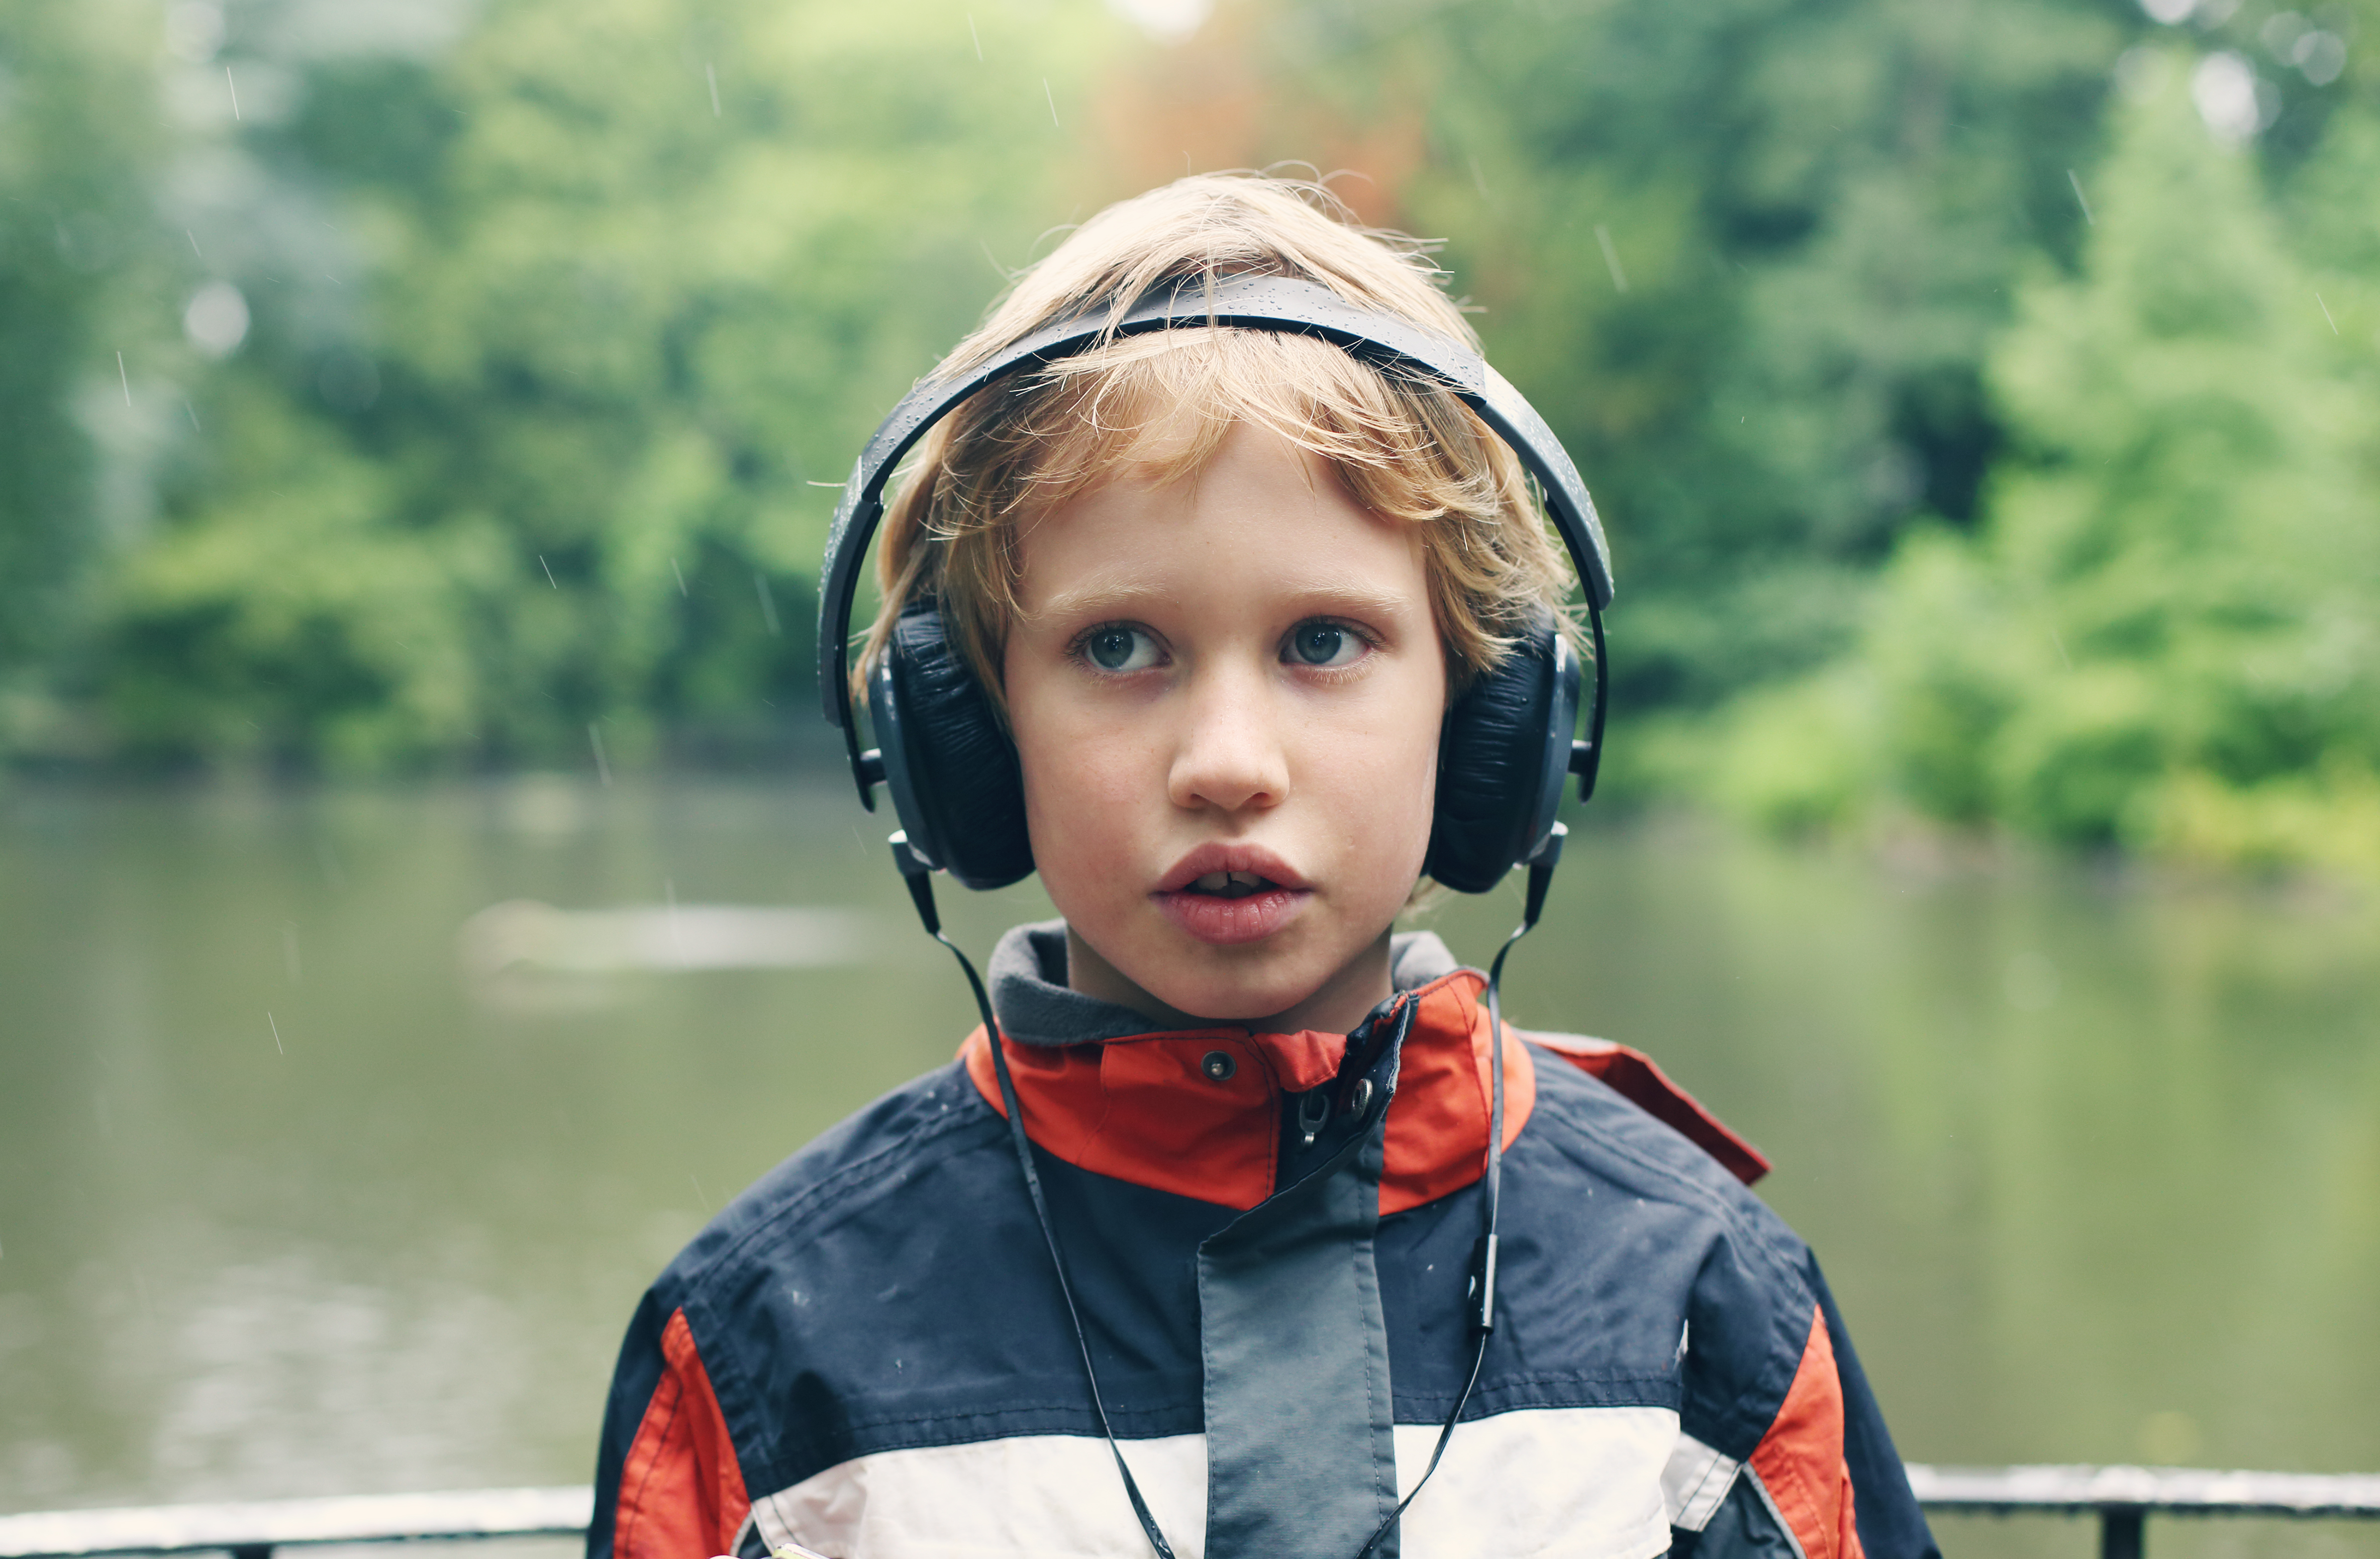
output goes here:
[[1447, 709], [1423, 871], [1459, 893], [1495, 888], [1554, 838], [1564, 774], [1578, 776], [1578, 800], [1595, 793], [1606, 693], [1602, 609], [1611, 605], [1611, 564], [1595, 500], [1545, 419], [1478, 352], [1407, 319], [1359, 309], [1314, 281], [1283, 276], [1192, 278], [1145, 298], [1114, 324], [1104, 312], [1061, 319], [957, 378], [923, 381], [885, 417], [843, 483], [819, 581], [819, 693], [826, 719], [843, 728], [859, 800], [873, 812], [876, 781], [885, 781], [907, 847], [969, 888], [1004, 888], [1033, 871], [1016, 745], [945, 633], [933, 600], [909, 602], [892, 628], [869, 685], [881, 747], [859, 750], [850, 693], [859, 564], [883, 519], [892, 469], [969, 395], [1109, 336], [1202, 326], [1316, 336], [1359, 362], [1442, 383], [1511, 445], [1545, 493], [1585, 586], [1595, 705], [1587, 740], [1576, 740], [1578, 657], [1552, 624], [1537, 624], [1502, 666], [1473, 681]]

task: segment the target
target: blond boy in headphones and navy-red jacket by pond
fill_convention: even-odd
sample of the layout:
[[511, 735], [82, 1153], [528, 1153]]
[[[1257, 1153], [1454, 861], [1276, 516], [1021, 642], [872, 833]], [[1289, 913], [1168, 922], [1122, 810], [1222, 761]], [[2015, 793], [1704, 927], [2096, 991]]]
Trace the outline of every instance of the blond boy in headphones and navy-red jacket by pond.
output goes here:
[[[952, 1066], [654, 1283], [590, 1559], [1933, 1552], [1759, 1154], [1390, 931], [1426, 866], [1528, 859], [1535, 919], [1552, 793], [1478, 881], [1457, 797], [1540, 795], [1542, 738], [1471, 752], [1511, 719], [1559, 788], [1571, 576], [1452, 388], [1461, 314], [1323, 205], [1202, 176], [1102, 212], [864, 457], [916, 438], [864, 793], [928, 928], [928, 859], [1038, 869], [1064, 919], [1002, 938]], [[1250, 278], [1323, 324], [1221, 324]], [[1378, 345], [1416, 328], [1454, 378]], [[864, 540], [838, 521], [828, 605]]]

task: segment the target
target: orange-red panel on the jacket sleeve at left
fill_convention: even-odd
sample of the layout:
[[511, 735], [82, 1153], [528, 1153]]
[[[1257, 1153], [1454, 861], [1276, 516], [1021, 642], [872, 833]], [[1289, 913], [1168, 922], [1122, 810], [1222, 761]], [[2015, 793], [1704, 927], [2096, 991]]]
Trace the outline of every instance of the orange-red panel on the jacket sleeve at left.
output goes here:
[[683, 1309], [662, 1328], [662, 1357], [669, 1364], [619, 1473], [612, 1559], [731, 1554], [752, 1499]]

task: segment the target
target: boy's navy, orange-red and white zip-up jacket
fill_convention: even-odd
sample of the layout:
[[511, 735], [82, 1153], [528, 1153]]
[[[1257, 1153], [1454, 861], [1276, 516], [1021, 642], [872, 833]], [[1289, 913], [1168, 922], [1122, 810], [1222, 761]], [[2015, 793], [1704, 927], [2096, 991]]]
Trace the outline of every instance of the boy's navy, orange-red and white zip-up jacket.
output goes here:
[[[1352, 1035], [1150, 1033], [992, 957], [1109, 1421], [1180, 1559], [1354, 1559], [1471, 1369], [1485, 978], [1397, 938]], [[1916, 1559], [1925, 1519], [1766, 1164], [1645, 1057], [1507, 1031], [1497, 1331], [1404, 1559]], [[645, 1295], [588, 1559], [1130, 1557], [978, 1028]]]

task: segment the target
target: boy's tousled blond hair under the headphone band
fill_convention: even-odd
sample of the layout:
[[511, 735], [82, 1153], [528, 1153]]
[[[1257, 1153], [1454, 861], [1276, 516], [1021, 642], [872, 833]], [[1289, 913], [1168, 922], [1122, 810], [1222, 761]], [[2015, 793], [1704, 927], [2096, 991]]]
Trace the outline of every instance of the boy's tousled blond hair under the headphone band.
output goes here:
[[[1428, 245], [1357, 226], [1316, 183], [1200, 174], [1078, 226], [935, 374], [962, 374], [1057, 319], [1104, 309], [1114, 324], [1164, 286], [1247, 274], [1316, 281], [1478, 350]], [[900, 612], [931, 597], [1004, 714], [1021, 521], [1126, 469], [1195, 474], [1240, 421], [1321, 457], [1364, 509], [1421, 528], [1449, 697], [1502, 664], [1530, 624], [1552, 619], [1576, 643], [1568, 557], [1518, 457], [1461, 397], [1311, 336], [1202, 326], [1104, 336], [978, 390], [919, 440], [885, 512], [883, 609], [854, 690], [864, 697]], [[1159, 431], [1164, 452], [1150, 455]]]

